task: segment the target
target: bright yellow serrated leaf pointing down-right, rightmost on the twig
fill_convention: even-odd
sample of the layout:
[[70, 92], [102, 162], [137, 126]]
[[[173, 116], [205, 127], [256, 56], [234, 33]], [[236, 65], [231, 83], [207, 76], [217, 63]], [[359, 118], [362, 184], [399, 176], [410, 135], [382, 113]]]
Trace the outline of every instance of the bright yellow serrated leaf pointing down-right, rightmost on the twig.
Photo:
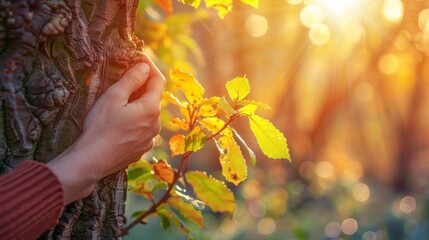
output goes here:
[[249, 116], [250, 129], [262, 152], [274, 159], [290, 159], [286, 138], [270, 121], [258, 115]]

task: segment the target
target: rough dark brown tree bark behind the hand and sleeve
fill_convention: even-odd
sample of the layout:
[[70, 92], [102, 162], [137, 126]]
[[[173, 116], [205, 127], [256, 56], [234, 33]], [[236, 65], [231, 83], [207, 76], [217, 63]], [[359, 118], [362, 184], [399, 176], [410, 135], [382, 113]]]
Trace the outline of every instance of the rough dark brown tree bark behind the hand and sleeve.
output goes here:
[[[133, 35], [137, 4], [0, 1], [2, 173], [23, 160], [48, 162], [64, 151], [97, 97], [142, 61], [143, 42]], [[125, 196], [121, 171], [66, 206], [59, 224], [40, 238], [120, 239]]]

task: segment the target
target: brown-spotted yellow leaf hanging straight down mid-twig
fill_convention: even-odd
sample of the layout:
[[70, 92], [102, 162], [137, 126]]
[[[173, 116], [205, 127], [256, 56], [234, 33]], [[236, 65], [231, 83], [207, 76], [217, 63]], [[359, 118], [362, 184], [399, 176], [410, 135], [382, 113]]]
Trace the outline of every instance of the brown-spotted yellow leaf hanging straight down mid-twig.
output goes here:
[[219, 146], [223, 150], [219, 158], [222, 175], [227, 181], [238, 185], [247, 178], [246, 160], [241, 153], [240, 146], [232, 135], [219, 138]]

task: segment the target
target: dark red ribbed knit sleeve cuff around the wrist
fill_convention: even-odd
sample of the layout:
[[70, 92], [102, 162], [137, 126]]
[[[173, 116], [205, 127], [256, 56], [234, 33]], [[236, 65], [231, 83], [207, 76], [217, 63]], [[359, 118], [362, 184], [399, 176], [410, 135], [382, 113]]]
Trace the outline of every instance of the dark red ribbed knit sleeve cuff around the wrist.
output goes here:
[[35, 239], [53, 227], [64, 207], [64, 193], [44, 164], [25, 161], [0, 176], [0, 236]]

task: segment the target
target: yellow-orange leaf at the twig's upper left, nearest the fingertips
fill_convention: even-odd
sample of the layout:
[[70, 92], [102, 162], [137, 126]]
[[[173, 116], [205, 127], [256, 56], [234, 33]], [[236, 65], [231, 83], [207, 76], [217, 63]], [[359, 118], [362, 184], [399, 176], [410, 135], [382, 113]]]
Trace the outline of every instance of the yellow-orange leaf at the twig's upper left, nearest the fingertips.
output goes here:
[[204, 88], [192, 74], [179, 69], [172, 69], [170, 70], [170, 78], [176, 87], [185, 93], [191, 104], [196, 104], [203, 98]]

